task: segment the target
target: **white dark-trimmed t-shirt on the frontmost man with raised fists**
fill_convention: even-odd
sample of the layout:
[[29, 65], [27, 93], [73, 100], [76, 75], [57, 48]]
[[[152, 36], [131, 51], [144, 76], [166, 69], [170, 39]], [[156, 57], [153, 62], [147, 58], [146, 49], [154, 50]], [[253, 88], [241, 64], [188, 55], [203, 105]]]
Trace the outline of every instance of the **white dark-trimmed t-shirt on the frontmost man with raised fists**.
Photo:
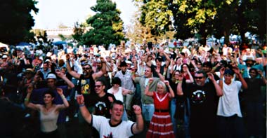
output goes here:
[[110, 119], [103, 116], [92, 115], [92, 125], [98, 130], [100, 138], [111, 136], [113, 138], [126, 138], [133, 136], [131, 127], [133, 127], [134, 123], [131, 120], [122, 120], [122, 123], [116, 126], [111, 126], [109, 121]]

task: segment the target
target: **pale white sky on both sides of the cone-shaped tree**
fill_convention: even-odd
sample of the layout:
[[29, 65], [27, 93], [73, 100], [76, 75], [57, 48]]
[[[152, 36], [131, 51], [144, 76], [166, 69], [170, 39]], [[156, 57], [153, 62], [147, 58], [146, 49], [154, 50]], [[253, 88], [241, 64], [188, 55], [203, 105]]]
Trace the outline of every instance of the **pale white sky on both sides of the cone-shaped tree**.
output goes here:
[[[129, 25], [133, 13], [137, 8], [132, 0], [112, 0], [122, 12], [120, 17], [124, 25]], [[37, 15], [32, 13], [35, 20], [34, 29], [55, 29], [63, 24], [74, 27], [74, 22], [85, 22], [88, 15], [93, 15], [91, 6], [96, 5], [96, 0], [39, 0], [36, 5], [39, 8]]]

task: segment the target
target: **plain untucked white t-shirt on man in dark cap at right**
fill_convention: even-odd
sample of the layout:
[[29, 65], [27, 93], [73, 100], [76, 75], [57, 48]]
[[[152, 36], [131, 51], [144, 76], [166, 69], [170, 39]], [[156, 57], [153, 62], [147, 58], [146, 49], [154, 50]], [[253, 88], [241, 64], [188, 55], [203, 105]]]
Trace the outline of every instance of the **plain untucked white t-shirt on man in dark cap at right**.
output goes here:
[[[217, 81], [219, 82], [219, 81]], [[237, 116], [242, 118], [242, 113], [239, 104], [238, 92], [240, 91], [242, 83], [240, 81], [232, 81], [227, 85], [223, 81], [223, 96], [219, 99], [217, 115], [218, 116]]]

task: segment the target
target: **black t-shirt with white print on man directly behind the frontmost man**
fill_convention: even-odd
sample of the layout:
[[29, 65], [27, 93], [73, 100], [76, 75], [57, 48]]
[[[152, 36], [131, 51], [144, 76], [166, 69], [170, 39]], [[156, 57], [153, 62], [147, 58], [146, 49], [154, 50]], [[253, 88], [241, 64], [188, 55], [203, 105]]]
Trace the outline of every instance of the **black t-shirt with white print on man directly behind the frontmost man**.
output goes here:
[[103, 97], [96, 97], [96, 104], [95, 104], [95, 115], [98, 116], [105, 116], [106, 118], [110, 118], [110, 105], [111, 102], [108, 97], [112, 97], [115, 100], [114, 95], [110, 93], [105, 93]]

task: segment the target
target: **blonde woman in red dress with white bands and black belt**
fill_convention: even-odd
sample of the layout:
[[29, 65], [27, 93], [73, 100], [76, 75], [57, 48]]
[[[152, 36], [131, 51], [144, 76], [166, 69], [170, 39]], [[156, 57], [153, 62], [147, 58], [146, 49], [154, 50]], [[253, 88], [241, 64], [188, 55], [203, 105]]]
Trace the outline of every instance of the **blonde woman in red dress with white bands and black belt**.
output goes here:
[[[150, 92], [149, 85], [152, 81], [152, 79], [149, 80], [145, 88], [145, 95], [154, 99], [155, 112], [150, 121], [146, 137], [174, 137], [171, 116], [169, 114], [169, 101], [174, 98], [174, 90], [171, 89], [169, 81], [159, 81], [157, 83], [157, 91]], [[169, 88], [169, 92], [167, 92], [167, 87]]]

